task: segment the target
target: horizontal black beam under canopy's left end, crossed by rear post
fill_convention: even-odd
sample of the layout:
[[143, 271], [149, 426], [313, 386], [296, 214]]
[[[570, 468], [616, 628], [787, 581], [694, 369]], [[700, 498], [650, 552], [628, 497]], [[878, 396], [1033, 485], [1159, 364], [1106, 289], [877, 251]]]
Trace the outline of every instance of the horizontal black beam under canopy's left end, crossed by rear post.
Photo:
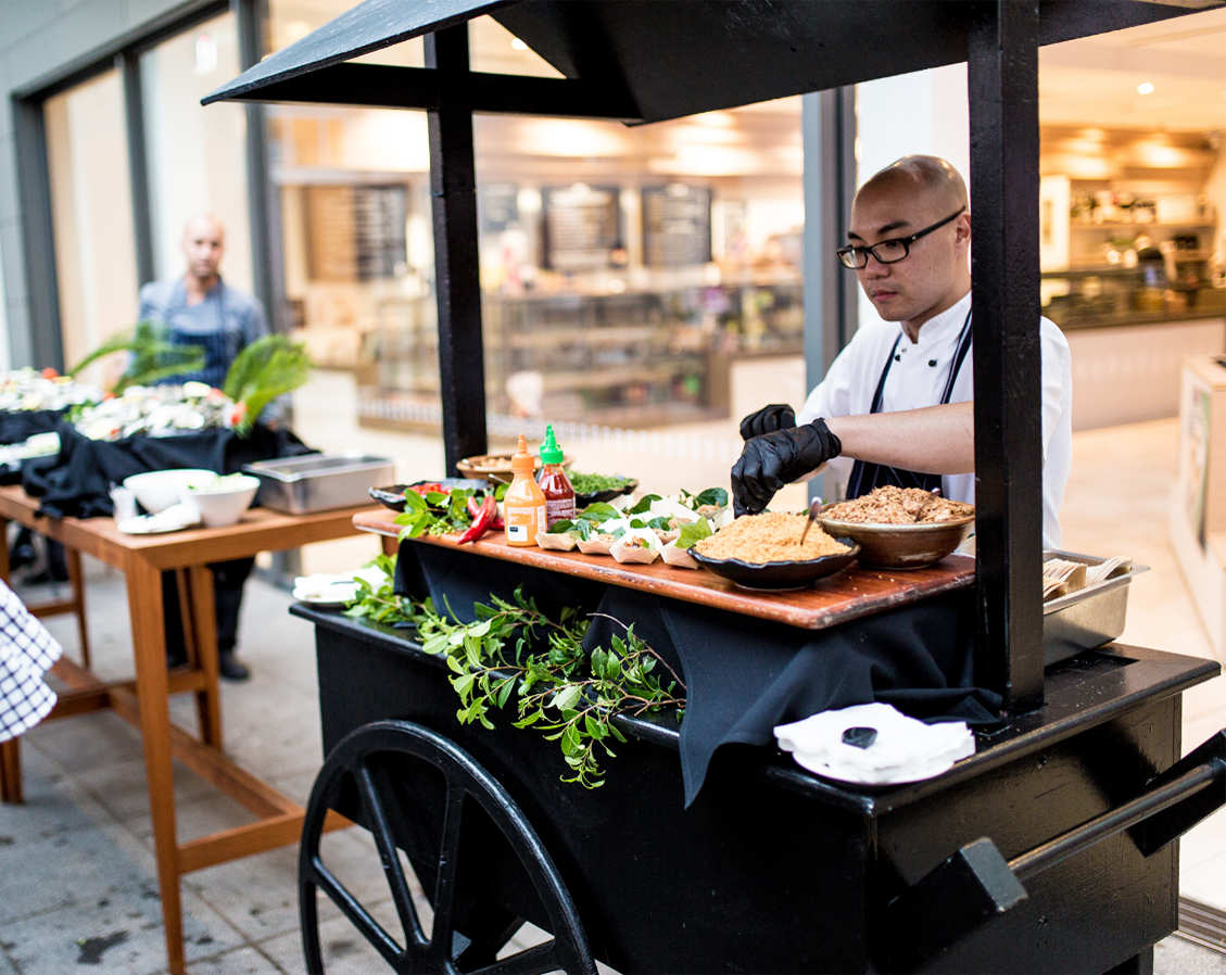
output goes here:
[[[439, 76], [429, 67], [335, 64], [257, 88], [232, 101], [354, 105], [362, 108], [439, 107]], [[638, 121], [626, 99], [585, 81], [525, 75], [468, 74], [473, 112]]]

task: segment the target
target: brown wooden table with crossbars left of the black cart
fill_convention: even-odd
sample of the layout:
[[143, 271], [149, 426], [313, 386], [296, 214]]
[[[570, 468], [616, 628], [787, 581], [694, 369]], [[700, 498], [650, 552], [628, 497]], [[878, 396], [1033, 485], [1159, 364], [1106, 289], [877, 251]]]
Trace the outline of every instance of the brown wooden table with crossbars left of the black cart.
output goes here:
[[[61, 659], [53, 673], [67, 684], [48, 720], [109, 708], [140, 728], [145, 746], [153, 846], [162, 892], [168, 966], [184, 971], [183, 912], [179, 879], [185, 873], [229, 860], [297, 843], [303, 808], [243, 771], [221, 752], [221, 698], [217, 689], [217, 634], [213, 617], [213, 579], [208, 564], [249, 558], [259, 552], [297, 548], [354, 533], [347, 508], [310, 515], [283, 515], [253, 509], [243, 520], [222, 529], [197, 529], [166, 535], [125, 535], [109, 518], [53, 520], [39, 518], [38, 500], [20, 487], [0, 488], [0, 530], [17, 521], [60, 542], [71, 557], [93, 556], [121, 570], [128, 581], [132, 623], [134, 681], [103, 682], [87, 667]], [[0, 578], [9, 575], [7, 533], [0, 535]], [[167, 671], [162, 613], [162, 572], [179, 576], [184, 635], [189, 666]], [[77, 608], [80, 585], [75, 583]], [[72, 610], [72, 600], [60, 612]], [[200, 737], [170, 722], [169, 695], [196, 695]], [[179, 759], [201, 778], [240, 802], [255, 823], [179, 843], [175, 833], [174, 774]], [[0, 800], [21, 801], [17, 740], [0, 746]], [[335, 825], [345, 825], [337, 818]]]

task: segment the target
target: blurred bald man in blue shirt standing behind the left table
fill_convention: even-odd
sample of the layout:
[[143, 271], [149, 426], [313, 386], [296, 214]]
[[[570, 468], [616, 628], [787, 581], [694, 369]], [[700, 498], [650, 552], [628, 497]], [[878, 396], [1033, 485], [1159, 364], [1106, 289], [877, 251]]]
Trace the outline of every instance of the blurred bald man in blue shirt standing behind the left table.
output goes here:
[[[153, 281], [141, 288], [141, 321], [157, 321], [162, 337], [181, 346], [201, 346], [205, 365], [164, 381], [197, 380], [221, 388], [230, 363], [243, 348], [268, 334], [260, 303], [250, 294], [222, 281], [219, 267], [226, 254], [226, 228], [208, 213], [197, 213], [183, 228], [183, 255], [188, 267], [181, 277]], [[213, 592], [217, 610], [217, 650], [221, 676], [245, 681], [250, 671], [234, 656], [243, 584], [255, 559], [213, 563]], [[167, 663], [186, 660], [183, 622], [179, 613], [174, 573], [162, 575], [162, 603], [167, 619]]]

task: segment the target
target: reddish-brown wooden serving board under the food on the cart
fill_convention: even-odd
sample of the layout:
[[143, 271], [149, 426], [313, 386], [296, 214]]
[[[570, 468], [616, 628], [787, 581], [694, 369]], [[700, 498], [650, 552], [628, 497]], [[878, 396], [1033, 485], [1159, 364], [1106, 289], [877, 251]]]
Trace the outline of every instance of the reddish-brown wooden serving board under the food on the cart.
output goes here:
[[[395, 537], [400, 532], [395, 519], [395, 511], [363, 511], [353, 516], [353, 525], [363, 531]], [[658, 559], [650, 565], [623, 565], [612, 556], [585, 556], [577, 548], [574, 552], [511, 548], [501, 532], [489, 532], [481, 541], [470, 545], [457, 545], [457, 535], [444, 535], [413, 541], [418, 545], [452, 548], [474, 557], [497, 558], [577, 575], [581, 579], [593, 579], [608, 585], [638, 589], [657, 596], [696, 602], [803, 629], [825, 629], [846, 623], [848, 619], [975, 584], [975, 559], [959, 554], [949, 556], [927, 569], [906, 572], [862, 569], [859, 565], [853, 565], [826, 579], [819, 579], [809, 589], [793, 592], [758, 592], [741, 589], [706, 569], [678, 569]]]

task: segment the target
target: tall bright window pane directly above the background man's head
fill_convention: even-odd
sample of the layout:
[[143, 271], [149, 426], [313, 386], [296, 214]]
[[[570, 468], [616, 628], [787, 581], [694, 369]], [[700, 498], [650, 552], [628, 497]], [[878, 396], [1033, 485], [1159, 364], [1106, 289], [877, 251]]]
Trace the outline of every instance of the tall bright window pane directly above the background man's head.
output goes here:
[[141, 56], [150, 206], [158, 278], [183, 273], [183, 227], [208, 212], [226, 227], [226, 281], [251, 292], [246, 113], [200, 99], [239, 74], [238, 27], [227, 13]]

